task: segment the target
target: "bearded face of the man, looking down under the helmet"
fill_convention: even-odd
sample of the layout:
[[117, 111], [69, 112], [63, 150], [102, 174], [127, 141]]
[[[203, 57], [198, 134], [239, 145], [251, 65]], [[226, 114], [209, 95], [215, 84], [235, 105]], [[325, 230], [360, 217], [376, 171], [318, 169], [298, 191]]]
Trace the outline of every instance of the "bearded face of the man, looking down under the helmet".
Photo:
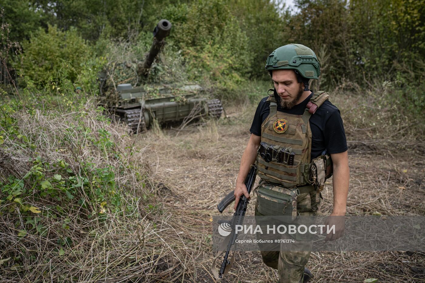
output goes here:
[[297, 81], [294, 70], [275, 70], [272, 79], [280, 96], [280, 106], [291, 109], [299, 103], [304, 92], [303, 84]]

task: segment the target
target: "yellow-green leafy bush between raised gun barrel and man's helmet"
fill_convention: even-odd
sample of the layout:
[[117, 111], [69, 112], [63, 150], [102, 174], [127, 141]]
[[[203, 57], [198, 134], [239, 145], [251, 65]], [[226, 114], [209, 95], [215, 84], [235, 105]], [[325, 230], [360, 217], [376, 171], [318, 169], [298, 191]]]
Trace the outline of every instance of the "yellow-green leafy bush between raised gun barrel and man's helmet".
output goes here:
[[228, 0], [196, 1], [171, 6], [162, 16], [176, 20], [170, 39], [182, 51], [189, 76], [203, 85], [234, 90], [251, 71], [253, 54], [228, 4]]

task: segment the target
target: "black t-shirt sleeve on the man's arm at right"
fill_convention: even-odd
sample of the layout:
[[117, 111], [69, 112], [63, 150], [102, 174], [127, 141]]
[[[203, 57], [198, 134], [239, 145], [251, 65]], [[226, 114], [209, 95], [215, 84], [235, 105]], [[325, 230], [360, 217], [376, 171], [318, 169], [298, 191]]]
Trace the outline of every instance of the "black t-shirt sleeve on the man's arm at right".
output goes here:
[[334, 111], [329, 116], [325, 124], [324, 133], [328, 153], [341, 153], [348, 150], [343, 120], [339, 110]]

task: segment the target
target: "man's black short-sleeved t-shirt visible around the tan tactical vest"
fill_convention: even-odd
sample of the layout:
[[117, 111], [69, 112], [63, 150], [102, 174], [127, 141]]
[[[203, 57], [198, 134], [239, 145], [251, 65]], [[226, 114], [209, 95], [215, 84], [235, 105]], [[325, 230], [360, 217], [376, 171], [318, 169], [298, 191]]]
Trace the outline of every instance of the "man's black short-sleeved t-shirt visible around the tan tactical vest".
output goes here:
[[[278, 103], [278, 111], [302, 115], [312, 96], [313, 93], [310, 94], [310, 96], [303, 102], [295, 105], [292, 109], [287, 109], [280, 106], [280, 97], [275, 93], [275, 98]], [[266, 102], [267, 98], [268, 96], [261, 99], [258, 104], [251, 128], [249, 129], [249, 131], [256, 136], [261, 136], [261, 124], [263, 124], [264, 120], [270, 113], [270, 105]], [[340, 110], [329, 102], [329, 100], [326, 100], [319, 108], [317, 108], [316, 113], [310, 116], [309, 122], [312, 130], [312, 159], [320, 156], [325, 149], [327, 153], [341, 153], [348, 149]]]

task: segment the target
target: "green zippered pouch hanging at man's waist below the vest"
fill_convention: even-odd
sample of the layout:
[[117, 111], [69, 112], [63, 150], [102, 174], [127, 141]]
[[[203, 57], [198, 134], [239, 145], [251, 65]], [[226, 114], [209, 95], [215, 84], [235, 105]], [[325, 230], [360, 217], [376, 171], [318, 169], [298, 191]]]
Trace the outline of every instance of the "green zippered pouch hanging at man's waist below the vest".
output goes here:
[[286, 216], [286, 222], [297, 218], [297, 194], [288, 188], [271, 184], [259, 185], [257, 210], [262, 215]]

